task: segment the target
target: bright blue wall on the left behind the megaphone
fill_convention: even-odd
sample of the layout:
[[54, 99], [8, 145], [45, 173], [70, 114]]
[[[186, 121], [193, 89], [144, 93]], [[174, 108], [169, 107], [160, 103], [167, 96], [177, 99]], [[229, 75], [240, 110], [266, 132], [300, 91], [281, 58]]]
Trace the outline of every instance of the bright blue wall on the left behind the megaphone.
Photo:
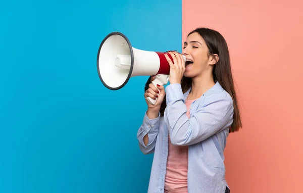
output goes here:
[[100, 82], [112, 31], [137, 49], [181, 50], [181, 0], [0, 3], [0, 192], [146, 192], [136, 139], [147, 79]]

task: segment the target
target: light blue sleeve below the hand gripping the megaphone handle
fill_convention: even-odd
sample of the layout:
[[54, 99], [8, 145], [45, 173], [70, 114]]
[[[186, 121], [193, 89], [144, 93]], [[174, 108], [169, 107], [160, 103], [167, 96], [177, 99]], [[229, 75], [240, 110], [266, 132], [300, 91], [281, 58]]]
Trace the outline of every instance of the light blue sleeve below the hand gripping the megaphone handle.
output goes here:
[[[149, 119], [145, 112], [145, 115], [143, 117], [143, 123], [141, 124], [137, 132], [139, 148], [143, 154], [154, 153], [156, 140], [159, 133], [159, 126], [160, 126], [160, 112], [156, 119]], [[143, 138], [146, 134], [148, 136], [147, 146], [145, 146], [143, 141]]]

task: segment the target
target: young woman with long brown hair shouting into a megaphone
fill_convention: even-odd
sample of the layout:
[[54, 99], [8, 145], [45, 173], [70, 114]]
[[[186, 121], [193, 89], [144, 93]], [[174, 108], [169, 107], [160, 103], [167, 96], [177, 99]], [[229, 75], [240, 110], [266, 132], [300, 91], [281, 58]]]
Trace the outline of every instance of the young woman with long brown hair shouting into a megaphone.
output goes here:
[[[168, 57], [170, 54], [173, 60]], [[138, 129], [143, 154], [154, 153], [148, 192], [230, 192], [225, 179], [224, 148], [230, 132], [242, 127], [228, 46], [212, 29], [197, 28], [182, 55], [169, 52], [169, 82], [149, 84]]]

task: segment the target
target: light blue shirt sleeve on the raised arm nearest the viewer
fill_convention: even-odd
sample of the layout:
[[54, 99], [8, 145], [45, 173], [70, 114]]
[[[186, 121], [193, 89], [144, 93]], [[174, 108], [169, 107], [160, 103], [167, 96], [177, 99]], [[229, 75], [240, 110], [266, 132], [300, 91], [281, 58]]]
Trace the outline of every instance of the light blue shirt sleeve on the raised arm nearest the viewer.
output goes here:
[[173, 144], [187, 146], [207, 139], [229, 127], [233, 121], [233, 101], [227, 92], [212, 92], [191, 117], [186, 115], [183, 92], [180, 84], [166, 87], [167, 107], [164, 120]]

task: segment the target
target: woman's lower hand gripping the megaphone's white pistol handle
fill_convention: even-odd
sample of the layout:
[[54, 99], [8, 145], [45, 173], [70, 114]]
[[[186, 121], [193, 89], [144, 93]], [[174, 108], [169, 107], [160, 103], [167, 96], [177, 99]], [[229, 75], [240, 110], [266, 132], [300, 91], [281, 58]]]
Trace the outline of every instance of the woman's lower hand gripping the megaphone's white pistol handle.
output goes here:
[[[153, 80], [155, 80], [155, 77], [151, 77], [150, 82], [152, 82]], [[155, 105], [152, 105], [147, 101], [148, 96], [151, 99], [154, 99], [154, 100], [157, 99], [157, 102], [156, 102]], [[146, 101], [146, 104], [147, 104], [147, 107], [148, 107], [147, 111], [155, 112], [155, 113], [158, 114], [158, 112], [160, 110], [160, 107], [161, 107], [161, 104], [164, 100], [164, 96], [165, 96], [164, 86], [157, 85], [157, 87], [156, 87], [153, 83], [150, 83], [148, 85], [148, 89], [144, 93], [144, 98], [145, 98], [145, 101]]]

